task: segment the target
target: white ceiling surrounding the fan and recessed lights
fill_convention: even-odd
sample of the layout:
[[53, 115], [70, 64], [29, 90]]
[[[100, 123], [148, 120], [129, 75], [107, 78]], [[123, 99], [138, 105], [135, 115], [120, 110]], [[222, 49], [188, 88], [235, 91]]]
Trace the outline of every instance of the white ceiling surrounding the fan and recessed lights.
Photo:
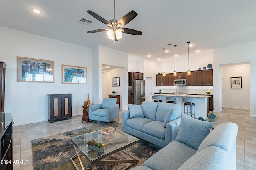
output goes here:
[[[114, 42], [105, 32], [86, 33], [108, 28], [88, 14], [92, 10], [106, 20], [114, 18], [114, 0], [0, 0], [0, 25], [77, 45], [103, 45], [124, 51], [129, 57], [157, 61], [162, 48], [170, 50], [165, 59], [208, 53], [226, 45], [256, 40], [256, 0], [116, 0], [116, 19], [134, 10], [138, 13], [125, 27], [142, 35], [123, 34]], [[31, 8], [42, 10], [35, 14]], [[78, 23], [81, 18], [90, 25]], [[104, 44], [107, 43], [107, 44]], [[197, 53], [198, 54], [198, 53]], [[147, 57], [151, 55], [151, 57]]]

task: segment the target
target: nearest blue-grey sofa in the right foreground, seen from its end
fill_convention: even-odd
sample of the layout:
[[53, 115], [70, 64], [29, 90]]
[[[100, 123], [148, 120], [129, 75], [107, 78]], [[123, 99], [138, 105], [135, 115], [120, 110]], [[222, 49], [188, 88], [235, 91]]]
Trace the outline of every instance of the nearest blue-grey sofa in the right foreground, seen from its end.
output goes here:
[[132, 170], [235, 170], [237, 125], [223, 123], [210, 132], [210, 122], [190, 119], [182, 115], [180, 127], [174, 128], [175, 140]]

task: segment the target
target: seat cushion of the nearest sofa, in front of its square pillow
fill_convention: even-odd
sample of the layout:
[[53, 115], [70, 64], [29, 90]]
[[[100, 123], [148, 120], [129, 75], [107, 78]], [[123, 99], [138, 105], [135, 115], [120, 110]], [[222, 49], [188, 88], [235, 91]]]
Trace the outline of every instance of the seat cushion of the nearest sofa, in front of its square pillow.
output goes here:
[[194, 154], [196, 154], [196, 149], [174, 140], [142, 165], [153, 170], [177, 170]]

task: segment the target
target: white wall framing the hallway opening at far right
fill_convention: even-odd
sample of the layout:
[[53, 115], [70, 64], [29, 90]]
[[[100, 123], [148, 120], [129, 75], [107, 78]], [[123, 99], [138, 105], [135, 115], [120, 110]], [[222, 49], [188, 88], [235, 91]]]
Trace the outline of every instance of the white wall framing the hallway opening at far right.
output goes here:
[[222, 111], [221, 68], [226, 64], [250, 63], [250, 115], [256, 117], [256, 41], [216, 48], [213, 51], [214, 111]]

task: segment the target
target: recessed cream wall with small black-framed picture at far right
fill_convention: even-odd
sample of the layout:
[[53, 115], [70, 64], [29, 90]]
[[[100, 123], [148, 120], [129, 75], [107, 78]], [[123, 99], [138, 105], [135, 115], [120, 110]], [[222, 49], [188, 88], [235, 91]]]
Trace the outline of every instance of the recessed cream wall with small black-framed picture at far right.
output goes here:
[[[223, 66], [223, 107], [250, 109], [250, 64]], [[242, 88], [230, 88], [230, 77], [242, 77]]]

